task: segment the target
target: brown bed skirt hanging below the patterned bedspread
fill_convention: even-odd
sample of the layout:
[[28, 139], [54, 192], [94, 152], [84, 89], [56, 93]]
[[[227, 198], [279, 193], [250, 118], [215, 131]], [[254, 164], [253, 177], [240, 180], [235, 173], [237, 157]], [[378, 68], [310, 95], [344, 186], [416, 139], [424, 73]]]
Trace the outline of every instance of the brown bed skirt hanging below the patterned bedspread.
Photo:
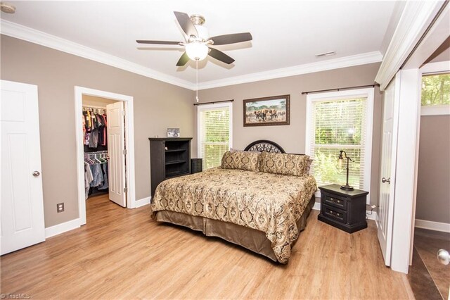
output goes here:
[[[309, 199], [307, 207], [299, 220], [297, 220], [297, 229], [304, 230], [307, 225], [307, 218], [314, 206], [316, 197], [314, 194]], [[175, 211], [158, 211], [156, 213], [158, 222], [167, 222], [176, 225], [189, 227], [192, 230], [203, 232], [207, 237], [220, 237], [233, 244], [238, 244], [257, 254], [262, 254], [272, 261], [277, 261], [271, 242], [266, 238], [264, 232], [241, 225], [223, 222], [219, 220], [204, 218], [195, 215], [186, 215]], [[297, 242], [297, 240], [295, 240]], [[293, 246], [295, 242], [291, 245]]]

